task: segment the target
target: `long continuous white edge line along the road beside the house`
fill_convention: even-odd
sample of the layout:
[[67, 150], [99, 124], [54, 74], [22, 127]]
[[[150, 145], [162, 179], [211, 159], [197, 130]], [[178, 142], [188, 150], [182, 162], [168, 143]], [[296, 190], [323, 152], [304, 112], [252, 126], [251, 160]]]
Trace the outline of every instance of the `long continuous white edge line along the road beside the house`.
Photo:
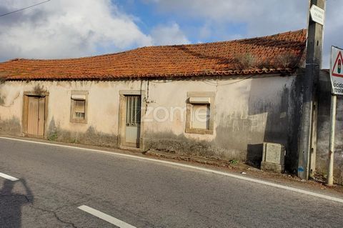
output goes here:
[[264, 184], [267, 186], [272, 186], [272, 187], [277, 187], [279, 189], [286, 189], [292, 192], [298, 192], [298, 193], [302, 193], [302, 194], [307, 194], [310, 195], [312, 197], [319, 197], [322, 199], [329, 199], [335, 202], [340, 202], [343, 203], [343, 199], [342, 198], [337, 198], [337, 197], [331, 197], [329, 195], [326, 194], [320, 194], [320, 193], [316, 193], [316, 192], [311, 192], [311, 191], [307, 191], [307, 190], [303, 190], [303, 189], [297, 189], [294, 187], [288, 187], [282, 184], [275, 184], [272, 182], [266, 182], [266, 181], [262, 181], [259, 179], [253, 179], [250, 177], [243, 177], [237, 174], [229, 174], [227, 172], [220, 172], [220, 171], [216, 171], [216, 170], [212, 170], [212, 169], [207, 169], [207, 168], [202, 168], [202, 167], [195, 167], [189, 164], [181, 164], [181, 163], [177, 163], [177, 162], [168, 162], [168, 161], [163, 161], [163, 160], [158, 160], [158, 159], [151, 159], [151, 158], [146, 158], [146, 157], [139, 157], [139, 156], [135, 156], [135, 155], [130, 155], [130, 154], [120, 154], [120, 153], [116, 153], [116, 152], [106, 152], [104, 150], [100, 150], [100, 149], [87, 149], [87, 148], [82, 148], [82, 147], [71, 147], [71, 146], [66, 146], [66, 145], [59, 145], [59, 144], [50, 144], [50, 143], [46, 143], [46, 142], [34, 142], [34, 141], [29, 141], [29, 140], [24, 140], [24, 139], [12, 139], [12, 138], [8, 138], [8, 137], [0, 137], [0, 139], [8, 139], [8, 140], [14, 140], [14, 141], [19, 141], [19, 142], [29, 142], [32, 144], [43, 144], [43, 145], [49, 145], [49, 146], [53, 146], [53, 147], [64, 147], [64, 148], [71, 148], [71, 149], [80, 149], [80, 150], [84, 150], [87, 152], [96, 152], [96, 153], [101, 153], [101, 154], [111, 154], [111, 155], [116, 155], [116, 156], [120, 156], [120, 157], [129, 157], [132, 159], [141, 159], [144, 161], [149, 161], [149, 162], [158, 162], [158, 163], [162, 163], [162, 164], [171, 164], [173, 166], [177, 166], [177, 167], [185, 167], [185, 168], [189, 168], [189, 169], [196, 169], [199, 171], [203, 171], [203, 172], [211, 172], [213, 174], [219, 174], [219, 175], [223, 175], [223, 176], [227, 176], [227, 177], [233, 177], [236, 179], [242, 179], [244, 181], [247, 182], [254, 182], [254, 183], [258, 183], [258, 184]]

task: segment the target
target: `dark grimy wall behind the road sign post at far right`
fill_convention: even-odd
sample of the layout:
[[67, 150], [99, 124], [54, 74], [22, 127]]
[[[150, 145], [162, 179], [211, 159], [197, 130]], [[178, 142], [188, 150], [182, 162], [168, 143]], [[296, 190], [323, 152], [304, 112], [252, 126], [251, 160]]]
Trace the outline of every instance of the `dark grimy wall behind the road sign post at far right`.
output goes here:
[[[331, 82], [329, 72], [322, 71], [319, 84], [318, 133], [317, 133], [317, 173], [327, 176], [329, 154]], [[337, 119], [334, 152], [334, 181], [343, 184], [343, 100], [337, 96]]]

